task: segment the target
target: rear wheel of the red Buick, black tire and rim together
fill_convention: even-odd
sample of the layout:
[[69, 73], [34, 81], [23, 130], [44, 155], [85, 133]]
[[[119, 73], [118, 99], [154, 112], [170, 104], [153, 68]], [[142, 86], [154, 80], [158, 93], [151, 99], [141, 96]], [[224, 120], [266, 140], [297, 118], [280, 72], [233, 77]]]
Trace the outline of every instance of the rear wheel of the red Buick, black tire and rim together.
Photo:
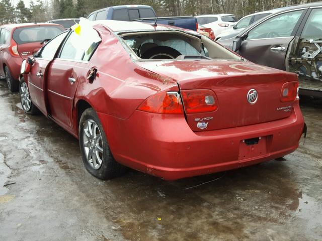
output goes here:
[[103, 180], [124, 173], [126, 168], [115, 161], [100, 119], [93, 108], [83, 112], [79, 121], [78, 137], [83, 162], [89, 173]]

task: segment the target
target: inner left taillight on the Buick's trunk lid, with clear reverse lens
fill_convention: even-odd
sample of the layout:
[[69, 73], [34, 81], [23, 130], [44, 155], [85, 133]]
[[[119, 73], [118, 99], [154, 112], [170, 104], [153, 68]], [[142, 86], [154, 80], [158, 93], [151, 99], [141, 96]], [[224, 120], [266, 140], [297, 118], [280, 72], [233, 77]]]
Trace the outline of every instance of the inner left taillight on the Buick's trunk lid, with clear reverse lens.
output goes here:
[[218, 108], [217, 96], [212, 90], [183, 90], [181, 95], [187, 114], [211, 112]]

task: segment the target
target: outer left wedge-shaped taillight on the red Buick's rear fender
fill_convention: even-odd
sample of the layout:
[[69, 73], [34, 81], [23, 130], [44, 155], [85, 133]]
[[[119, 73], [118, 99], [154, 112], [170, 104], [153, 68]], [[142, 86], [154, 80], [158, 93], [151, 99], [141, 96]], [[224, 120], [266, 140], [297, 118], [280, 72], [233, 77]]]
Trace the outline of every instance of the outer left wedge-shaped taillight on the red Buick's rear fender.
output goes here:
[[138, 110], [151, 113], [182, 114], [183, 106], [178, 92], [159, 92], [144, 100]]

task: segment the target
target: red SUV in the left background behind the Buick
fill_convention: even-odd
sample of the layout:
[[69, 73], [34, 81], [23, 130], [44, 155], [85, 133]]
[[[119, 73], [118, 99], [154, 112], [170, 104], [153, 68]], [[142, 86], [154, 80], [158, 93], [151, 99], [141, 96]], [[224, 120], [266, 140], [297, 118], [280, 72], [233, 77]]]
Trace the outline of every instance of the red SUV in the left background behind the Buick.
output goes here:
[[57, 24], [8, 24], [0, 27], [0, 75], [11, 91], [19, 87], [21, 62], [65, 31]]

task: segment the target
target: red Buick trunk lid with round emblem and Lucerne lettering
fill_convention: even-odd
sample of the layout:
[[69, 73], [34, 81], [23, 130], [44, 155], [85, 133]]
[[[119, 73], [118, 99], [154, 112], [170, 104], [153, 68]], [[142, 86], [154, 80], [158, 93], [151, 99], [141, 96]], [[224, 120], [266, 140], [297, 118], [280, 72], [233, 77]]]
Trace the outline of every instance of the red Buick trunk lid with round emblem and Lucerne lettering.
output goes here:
[[[186, 114], [193, 131], [208, 131], [254, 125], [288, 117], [293, 103], [280, 101], [285, 82], [296, 75], [248, 61], [138, 62], [138, 65], [178, 82], [180, 90], [210, 89], [217, 96], [213, 112]], [[248, 101], [255, 89], [256, 103]]]

